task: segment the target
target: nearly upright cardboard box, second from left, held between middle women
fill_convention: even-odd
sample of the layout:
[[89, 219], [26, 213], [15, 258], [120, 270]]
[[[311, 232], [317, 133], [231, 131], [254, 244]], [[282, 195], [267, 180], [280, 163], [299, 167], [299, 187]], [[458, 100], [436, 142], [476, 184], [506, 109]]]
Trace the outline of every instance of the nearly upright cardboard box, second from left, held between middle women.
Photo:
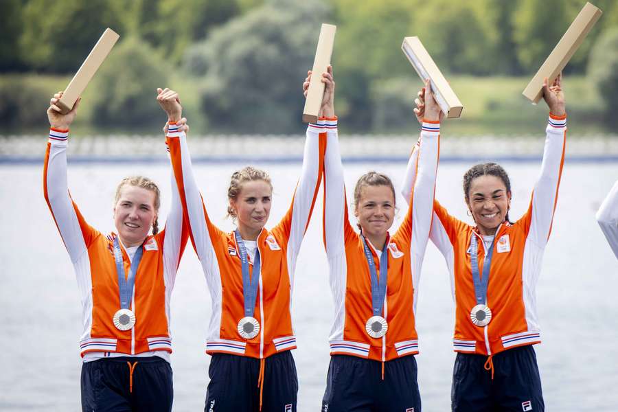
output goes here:
[[325, 23], [320, 30], [315, 59], [313, 60], [312, 76], [309, 82], [307, 99], [305, 100], [305, 108], [303, 109], [303, 122], [305, 123], [317, 122], [322, 98], [324, 97], [325, 84], [321, 82], [322, 73], [330, 65], [336, 31], [336, 25]]

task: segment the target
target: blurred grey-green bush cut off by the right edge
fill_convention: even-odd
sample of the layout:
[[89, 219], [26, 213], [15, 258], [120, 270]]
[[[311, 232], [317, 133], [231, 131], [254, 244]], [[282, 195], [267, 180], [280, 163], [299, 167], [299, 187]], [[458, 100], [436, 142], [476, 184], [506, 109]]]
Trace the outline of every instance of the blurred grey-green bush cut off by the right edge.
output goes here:
[[618, 124], [618, 28], [606, 31], [597, 39], [588, 61], [588, 79], [604, 101], [604, 117]]

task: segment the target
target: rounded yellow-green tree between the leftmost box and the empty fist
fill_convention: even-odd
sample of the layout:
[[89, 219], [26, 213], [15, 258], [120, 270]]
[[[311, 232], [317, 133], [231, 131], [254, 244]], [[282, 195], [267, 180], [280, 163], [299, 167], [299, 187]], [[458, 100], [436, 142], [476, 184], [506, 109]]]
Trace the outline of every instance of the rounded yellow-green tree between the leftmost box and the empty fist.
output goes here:
[[[144, 126], [165, 119], [157, 87], [168, 83], [169, 66], [148, 44], [124, 38], [97, 73], [91, 88], [92, 122], [108, 126]], [[157, 124], [158, 126], [161, 126]]]

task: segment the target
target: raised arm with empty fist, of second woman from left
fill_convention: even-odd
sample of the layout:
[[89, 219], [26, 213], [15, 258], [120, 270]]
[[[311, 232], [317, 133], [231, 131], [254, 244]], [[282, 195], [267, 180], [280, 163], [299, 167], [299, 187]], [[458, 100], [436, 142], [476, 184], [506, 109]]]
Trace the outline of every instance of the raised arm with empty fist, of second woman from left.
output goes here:
[[157, 101], [168, 113], [167, 144], [174, 171], [174, 186], [179, 198], [193, 247], [202, 265], [214, 262], [214, 242], [222, 241], [221, 231], [213, 225], [208, 217], [202, 196], [193, 174], [191, 155], [187, 146], [186, 119], [182, 119], [182, 106], [178, 93], [170, 89], [158, 89]]

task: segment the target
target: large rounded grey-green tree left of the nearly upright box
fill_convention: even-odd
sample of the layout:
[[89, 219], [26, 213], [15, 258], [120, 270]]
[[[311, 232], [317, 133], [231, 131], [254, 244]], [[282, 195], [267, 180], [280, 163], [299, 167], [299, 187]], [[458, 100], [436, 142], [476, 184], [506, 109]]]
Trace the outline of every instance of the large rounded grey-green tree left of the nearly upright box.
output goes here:
[[266, 1], [187, 52], [186, 67], [203, 76], [201, 109], [214, 130], [297, 133], [321, 23], [321, 1]]

